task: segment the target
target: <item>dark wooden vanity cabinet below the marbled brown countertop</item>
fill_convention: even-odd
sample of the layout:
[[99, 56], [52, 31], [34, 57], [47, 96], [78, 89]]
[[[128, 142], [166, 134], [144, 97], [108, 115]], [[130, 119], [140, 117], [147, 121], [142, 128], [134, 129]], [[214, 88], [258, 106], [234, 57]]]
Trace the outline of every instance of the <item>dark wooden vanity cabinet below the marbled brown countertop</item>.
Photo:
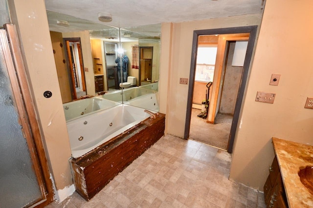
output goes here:
[[282, 176], [275, 156], [269, 167], [268, 179], [264, 185], [264, 198], [267, 208], [288, 208]]

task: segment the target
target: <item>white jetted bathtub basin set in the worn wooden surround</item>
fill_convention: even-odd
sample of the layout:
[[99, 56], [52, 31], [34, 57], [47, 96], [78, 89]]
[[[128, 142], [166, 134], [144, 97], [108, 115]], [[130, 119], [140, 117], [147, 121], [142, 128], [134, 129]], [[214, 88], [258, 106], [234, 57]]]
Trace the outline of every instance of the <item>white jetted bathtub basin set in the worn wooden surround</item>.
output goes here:
[[77, 158], [88, 153], [149, 117], [150, 114], [142, 108], [119, 104], [67, 122], [72, 157]]

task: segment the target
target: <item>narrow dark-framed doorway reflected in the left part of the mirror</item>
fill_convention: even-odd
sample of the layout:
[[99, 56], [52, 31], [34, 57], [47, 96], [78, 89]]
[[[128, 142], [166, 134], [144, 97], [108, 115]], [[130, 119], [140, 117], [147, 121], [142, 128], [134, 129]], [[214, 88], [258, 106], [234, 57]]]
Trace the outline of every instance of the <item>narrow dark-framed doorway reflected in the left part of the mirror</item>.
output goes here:
[[80, 38], [64, 38], [72, 100], [87, 95]]

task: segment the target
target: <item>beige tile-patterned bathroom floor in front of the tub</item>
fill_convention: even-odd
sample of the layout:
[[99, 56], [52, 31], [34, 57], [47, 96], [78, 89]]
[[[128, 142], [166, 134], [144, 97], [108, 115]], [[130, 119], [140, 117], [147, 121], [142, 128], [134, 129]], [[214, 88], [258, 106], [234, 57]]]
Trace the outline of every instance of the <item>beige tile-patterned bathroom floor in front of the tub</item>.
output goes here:
[[89, 202], [77, 192], [46, 208], [265, 208], [263, 193], [228, 180], [230, 154], [167, 135]]

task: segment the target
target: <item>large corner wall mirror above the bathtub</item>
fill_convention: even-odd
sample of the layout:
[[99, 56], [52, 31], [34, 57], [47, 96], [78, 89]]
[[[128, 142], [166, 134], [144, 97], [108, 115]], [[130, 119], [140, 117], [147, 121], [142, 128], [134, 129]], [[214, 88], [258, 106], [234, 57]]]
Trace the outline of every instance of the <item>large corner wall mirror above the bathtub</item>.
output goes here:
[[[47, 18], [62, 102], [77, 111], [67, 121], [121, 103], [158, 111], [160, 24], [116, 28], [51, 11]], [[153, 107], [134, 99], [148, 94]]]

